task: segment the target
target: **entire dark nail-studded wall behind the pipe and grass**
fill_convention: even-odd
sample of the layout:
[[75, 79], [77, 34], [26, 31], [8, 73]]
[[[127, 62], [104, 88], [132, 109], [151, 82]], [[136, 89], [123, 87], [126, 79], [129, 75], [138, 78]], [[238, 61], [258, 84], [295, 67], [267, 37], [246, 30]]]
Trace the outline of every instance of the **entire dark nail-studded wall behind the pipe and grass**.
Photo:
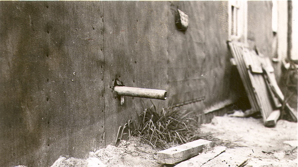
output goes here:
[[116, 77], [167, 90], [152, 100], [159, 108], [190, 103], [181, 108], [202, 114], [234, 97], [227, 11], [227, 1], [1, 1], [0, 166], [50, 166], [114, 144], [118, 127], [152, 105], [120, 105]]

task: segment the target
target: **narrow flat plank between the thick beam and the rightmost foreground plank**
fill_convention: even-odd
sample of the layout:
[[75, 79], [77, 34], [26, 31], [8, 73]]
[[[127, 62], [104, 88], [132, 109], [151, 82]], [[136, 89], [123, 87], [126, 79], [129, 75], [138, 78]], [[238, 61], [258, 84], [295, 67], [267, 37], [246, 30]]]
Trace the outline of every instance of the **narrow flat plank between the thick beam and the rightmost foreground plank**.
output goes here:
[[207, 163], [208, 161], [212, 160], [214, 157], [217, 157], [221, 153], [226, 151], [225, 146], [217, 146], [213, 150], [210, 150], [206, 153], [201, 153], [193, 158], [190, 158], [189, 160], [183, 161], [176, 165], [175, 167], [200, 167]]

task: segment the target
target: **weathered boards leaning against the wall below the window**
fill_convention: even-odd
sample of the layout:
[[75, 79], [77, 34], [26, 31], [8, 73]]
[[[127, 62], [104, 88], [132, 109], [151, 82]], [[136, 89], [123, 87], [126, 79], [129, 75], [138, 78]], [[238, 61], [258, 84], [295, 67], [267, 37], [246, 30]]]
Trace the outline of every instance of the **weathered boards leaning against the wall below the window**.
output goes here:
[[297, 122], [297, 112], [285, 103], [285, 97], [277, 85], [270, 59], [254, 50], [249, 50], [241, 42], [229, 42], [235, 63], [247, 93], [251, 109], [245, 114], [261, 112], [265, 126], [274, 127], [280, 117], [280, 109], [287, 112]]

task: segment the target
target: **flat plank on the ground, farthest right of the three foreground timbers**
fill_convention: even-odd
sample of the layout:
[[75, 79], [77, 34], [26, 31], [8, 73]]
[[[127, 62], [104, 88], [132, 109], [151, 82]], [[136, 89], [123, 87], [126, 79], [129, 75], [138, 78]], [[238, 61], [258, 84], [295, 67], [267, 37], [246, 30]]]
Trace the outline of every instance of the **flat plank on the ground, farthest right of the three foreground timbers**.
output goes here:
[[226, 152], [221, 153], [214, 159], [205, 163], [201, 167], [210, 167], [210, 166], [235, 166], [235, 167], [243, 167], [247, 164], [249, 158], [243, 157], [240, 155], [232, 155]]

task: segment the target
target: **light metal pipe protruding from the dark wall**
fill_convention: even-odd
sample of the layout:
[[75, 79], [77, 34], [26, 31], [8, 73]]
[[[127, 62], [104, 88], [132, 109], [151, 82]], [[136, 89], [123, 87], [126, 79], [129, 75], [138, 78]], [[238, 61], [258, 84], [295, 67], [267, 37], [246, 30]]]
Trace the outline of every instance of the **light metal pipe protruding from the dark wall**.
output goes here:
[[119, 96], [141, 97], [159, 100], [167, 99], [167, 91], [165, 90], [114, 86], [114, 91], [116, 91]]

